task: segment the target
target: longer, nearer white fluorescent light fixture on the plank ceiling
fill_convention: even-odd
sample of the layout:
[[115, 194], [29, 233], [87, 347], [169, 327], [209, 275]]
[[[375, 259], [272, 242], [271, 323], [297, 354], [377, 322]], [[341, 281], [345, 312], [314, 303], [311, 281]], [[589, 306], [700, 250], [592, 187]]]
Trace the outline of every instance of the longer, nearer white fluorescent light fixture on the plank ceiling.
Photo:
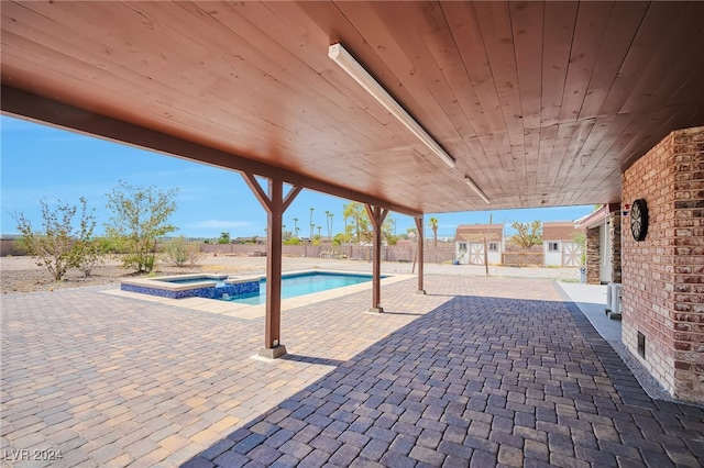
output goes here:
[[392, 113], [406, 129], [418, 137], [431, 152], [433, 152], [440, 159], [442, 159], [448, 166], [454, 167], [454, 159], [433, 140], [432, 136], [424, 130], [422, 126], [416, 120], [410, 116], [404, 108], [392, 96], [386, 92], [382, 85], [376, 81], [372, 75], [369, 74], [360, 65], [359, 62], [350, 55], [350, 53], [342, 47], [342, 44], [332, 44], [328, 49], [328, 57], [332, 58], [336, 64], [348, 73], [354, 80], [372, 94], [374, 99], [378, 101], [388, 112]]

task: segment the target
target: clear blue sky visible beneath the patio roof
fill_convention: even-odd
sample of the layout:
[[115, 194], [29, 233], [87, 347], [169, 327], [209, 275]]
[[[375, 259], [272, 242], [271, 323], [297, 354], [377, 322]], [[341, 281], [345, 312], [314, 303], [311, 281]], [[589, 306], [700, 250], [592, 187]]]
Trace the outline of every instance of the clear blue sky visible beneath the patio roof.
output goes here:
[[[22, 212], [35, 227], [41, 225], [40, 200], [50, 205], [62, 200], [78, 204], [79, 198], [95, 208], [96, 234], [103, 232], [109, 218], [106, 193], [124, 180], [132, 186], [178, 188], [177, 211], [172, 222], [177, 235], [232, 237], [265, 235], [266, 214], [239, 172], [164, 156], [125, 145], [65, 132], [8, 116], [0, 116], [1, 130], [1, 224], [2, 234], [16, 234], [12, 213]], [[342, 205], [348, 200], [304, 190], [284, 214], [287, 230], [298, 218], [301, 236], [310, 234], [310, 208], [314, 223], [327, 235], [326, 211], [333, 213], [333, 234], [343, 230]], [[494, 210], [461, 213], [428, 213], [439, 221], [438, 236], [452, 237], [458, 224], [566, 221], [579, 219], [593, 207]], [[414, 227], [409, 216], [392, 213], [397, 233]], [[430, 236], [428, 227], [426, 235]]]

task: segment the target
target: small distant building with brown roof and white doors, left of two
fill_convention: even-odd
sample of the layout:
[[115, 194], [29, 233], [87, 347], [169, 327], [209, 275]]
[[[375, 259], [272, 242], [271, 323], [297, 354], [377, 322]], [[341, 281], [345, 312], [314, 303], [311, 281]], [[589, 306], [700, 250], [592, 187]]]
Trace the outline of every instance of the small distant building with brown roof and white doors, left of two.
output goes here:
[[454, 234], [454, 258], [461, 265], [502, 265], [506, 250], [503, 224], [461, 224]]

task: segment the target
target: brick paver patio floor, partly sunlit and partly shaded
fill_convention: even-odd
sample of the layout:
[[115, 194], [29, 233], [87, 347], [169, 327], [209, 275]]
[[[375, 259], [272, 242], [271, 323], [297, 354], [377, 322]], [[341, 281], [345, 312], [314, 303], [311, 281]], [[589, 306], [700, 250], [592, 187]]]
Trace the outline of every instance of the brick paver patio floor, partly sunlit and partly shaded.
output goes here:
[[704, 411], [648, 398], [551, 281], [415, 286], [285, 312], [275, 361], [262, 319], [3, 296], [2, 464], [704, 465]]

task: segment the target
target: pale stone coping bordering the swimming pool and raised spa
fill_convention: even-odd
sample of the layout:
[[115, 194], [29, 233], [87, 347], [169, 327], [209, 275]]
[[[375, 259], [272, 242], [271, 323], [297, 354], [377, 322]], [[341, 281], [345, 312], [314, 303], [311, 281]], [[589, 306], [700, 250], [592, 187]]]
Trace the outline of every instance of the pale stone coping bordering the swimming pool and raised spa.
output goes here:
[[[370, 275], [369, 272], [364, 272], [364, 271], [346, 271], [346, 270], [310, 268], [305, 270], [285, 271], [283, 272], [283, 276], [300, 275], [300, 274], [307, 274], [307, 272], [328, 272], [328, 274], [355, 275], [355, 276]], [[187, 275], [178, 275], [177, 277], [184, 278]], [[207, 275], [193, 274], [190, 276], [202, 277]], [[251, 281], [255, 278], [260, 278], [260, 279], [265, 278], [265, 276], [263, 275], [249, 275], [249, 276], [210, 275], [210, 276], [213, 276], [213, 277], [227, 276], [233, 280], [242, 280], [242, 281]], [[385, 274], [384, 276], [385, 278], [381, 279], [382, 286], [394, 285], [396, 282], [406, 281], [410, 278], [417, 278], [417, 275], [405, 275], [405, 274]], [[174, 276], [172, 275], [169, 277], [174, 277]], [[136, 279], [130, 279], [129, 281], [132, 281], [132, 282], [140, 281], [138, 282], [138, 286], [150, 286], [154, 283], [153, 282], [154, 280], [160, 280], [164, 278], [168, 278], [168, 277], [164, 276], [164, 277], [154, 277], [154, 278], [144, 278], [144, 279], [136, 278]], [[206, 280], [206, 282], [208, 281]], [[175, 286], [180, 286], [180, 285], [175, 285]], [[342, 298], [344, 296], [349, 296], [349, 294], [353, 294], [356, 292], [362, 292], [371, 289], [372, 289], [372, 281], [366, 281], [358, 285], [350, 285], [350, 286], [343, 286], [340, 288], [329, 289], [327, 291], [315, 292], [311, 294], [302, 294], [295, 298], [282, 299], [282, 312], [296, 309], [299, 307], [304, 307], [304, 305], [314, 304], [317, 302], [327, 301], [330, 299]], [[215, 313], [215, 314], [220, 314], [220, 315], [226, 315], [226, 316], [231, 316], [231, 317], [242, 319], [242, 320], [260, 319], [260, 317], [263, 317], [266, 313], [266, 304], [249, 305], [249, 304], [241, 304], [237, 302], [221, 301], [218, 299], [207, 299], [207, 298], [169, 299], [169, 298], [163, 298], [158, 296], [142, 294], [139, 292], [122, 291], [120, 289], [107, 289], [107, 290], [103, 290], [102, 292], [111, 296], [138, 299], [146, 302], [155, 302], [164, 305], [173, 305], [173, 307], [178, 307], [183, 309], [190, 309], [199, 312]]]

